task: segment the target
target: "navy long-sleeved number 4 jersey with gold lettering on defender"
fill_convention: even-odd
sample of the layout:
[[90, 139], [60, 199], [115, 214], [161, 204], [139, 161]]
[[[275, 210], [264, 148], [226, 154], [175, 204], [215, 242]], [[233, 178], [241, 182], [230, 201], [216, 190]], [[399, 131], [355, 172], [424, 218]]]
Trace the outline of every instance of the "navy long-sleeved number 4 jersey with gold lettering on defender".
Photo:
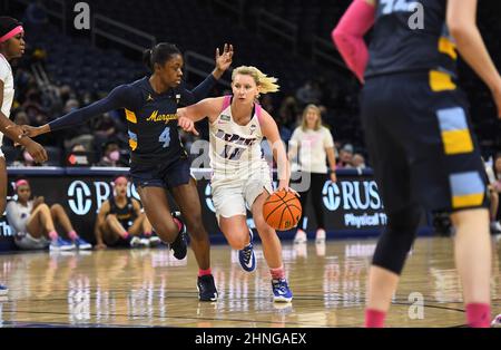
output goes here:
[[104, 113], [125, 108], [131, 164], [174, 163], [187, 157], [177, 129], [178, 105], [193, 105], [205, 98], [216, 84], [209, 75], [193, 91], [183, 86], [156, 94], [145, 77], [115, 88], [108, 97], [49, 123], [51, 130], [77, 126]]

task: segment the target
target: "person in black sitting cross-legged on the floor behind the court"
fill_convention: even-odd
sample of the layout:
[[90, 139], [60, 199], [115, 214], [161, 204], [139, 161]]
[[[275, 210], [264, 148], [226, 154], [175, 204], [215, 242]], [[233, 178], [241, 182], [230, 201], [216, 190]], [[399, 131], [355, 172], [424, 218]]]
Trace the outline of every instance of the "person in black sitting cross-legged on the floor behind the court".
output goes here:
[[[99, 210], [96, 222], [96, 249], [156, 246], [161, 243], [141, 213], [138, 201], [127, 196], [128, 179], [115, 181], [115, 194]], [[143, 237], [141, 237], [143, 236]]]

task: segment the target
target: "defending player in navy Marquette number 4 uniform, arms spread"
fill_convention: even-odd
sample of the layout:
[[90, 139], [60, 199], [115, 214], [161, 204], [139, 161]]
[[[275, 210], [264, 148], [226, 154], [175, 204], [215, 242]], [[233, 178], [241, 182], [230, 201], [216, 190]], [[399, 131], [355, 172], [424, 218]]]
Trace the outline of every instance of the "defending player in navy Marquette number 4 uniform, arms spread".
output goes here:
[[[146, 216], [174, 256], [186, 256], [184, 225], [170, 214], [166, 189], [173, 194], [186, 220], [191, 249], [199, 266], [200, 301], [217, 300], [210, 271], [209, 239], [202, 221], [202, 206], [195, 181], [190, 176], [188, 155], [180, 143], [177, 125], [179, 104], [191, 105], [206, 97], [232, 65], [233, 47], [216, 51], [217, 67], [193, 91], [181, 85], [184, 60], [171, 43], [159, 43], [145, 52], [153, 75], [115, 88], [108, 97], [40, 127], [23, 126], [27, 136], [78, 126], [109, 110], [125, 108], [130, 157], [130, 177], [138, 188]], [[127, 237], [124, 237], [127, 239]]]

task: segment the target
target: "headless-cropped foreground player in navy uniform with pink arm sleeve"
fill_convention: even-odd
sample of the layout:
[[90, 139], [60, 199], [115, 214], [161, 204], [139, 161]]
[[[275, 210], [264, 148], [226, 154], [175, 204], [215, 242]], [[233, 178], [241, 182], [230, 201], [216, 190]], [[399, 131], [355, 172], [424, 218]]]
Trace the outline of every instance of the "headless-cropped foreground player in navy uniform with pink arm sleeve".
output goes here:
[[[501, 77], [475, 16], [477, 0], [355, 0], [333, 31], [365, 81], [362, 123], [389, 215], [370, 271], [366, 327], [384, 325], [421, 207], [451, 213], [468, 324], [489, 327], [487, 178], [456, 85], [456, 50], [491, 89], [500, 116]], [[363, 36], [373, 23], [367, 51]]]

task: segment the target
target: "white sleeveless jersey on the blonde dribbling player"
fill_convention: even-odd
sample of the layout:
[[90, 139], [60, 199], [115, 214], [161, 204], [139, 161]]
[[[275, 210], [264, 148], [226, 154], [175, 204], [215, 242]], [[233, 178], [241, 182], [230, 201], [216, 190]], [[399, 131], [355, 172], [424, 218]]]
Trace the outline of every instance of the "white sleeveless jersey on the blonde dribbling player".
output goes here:
[[261, 114], [262, 107], [256, 104], [250, 121], [238, 125], [232, 115], [232, 97], [225, 97], [222, 113], [209, 124], [210, 167], [215, 177], [249, 175], [266, 164], [261, 149]]

